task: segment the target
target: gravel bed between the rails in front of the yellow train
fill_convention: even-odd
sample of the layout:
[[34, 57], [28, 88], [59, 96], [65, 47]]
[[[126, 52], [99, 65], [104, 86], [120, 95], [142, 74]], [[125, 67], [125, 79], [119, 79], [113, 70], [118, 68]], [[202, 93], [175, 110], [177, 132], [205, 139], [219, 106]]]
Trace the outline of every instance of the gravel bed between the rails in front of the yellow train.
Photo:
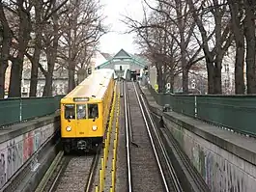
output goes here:
[[84, 191], [94, 155], [71, 157], [64, 174], [59, 180], [56, 192]]

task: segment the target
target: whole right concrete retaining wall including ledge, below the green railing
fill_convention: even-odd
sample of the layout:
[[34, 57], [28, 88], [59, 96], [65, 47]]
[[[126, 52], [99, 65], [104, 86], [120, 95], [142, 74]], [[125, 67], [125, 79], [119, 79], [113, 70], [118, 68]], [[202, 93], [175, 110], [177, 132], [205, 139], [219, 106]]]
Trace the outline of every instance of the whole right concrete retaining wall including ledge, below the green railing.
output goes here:
[[[256, 191], [256, 140], [161, 108], [143, 90], [151, 110], [179, 142], [211, 191]], [[238, 117], [239, 118], [239, 117]]]

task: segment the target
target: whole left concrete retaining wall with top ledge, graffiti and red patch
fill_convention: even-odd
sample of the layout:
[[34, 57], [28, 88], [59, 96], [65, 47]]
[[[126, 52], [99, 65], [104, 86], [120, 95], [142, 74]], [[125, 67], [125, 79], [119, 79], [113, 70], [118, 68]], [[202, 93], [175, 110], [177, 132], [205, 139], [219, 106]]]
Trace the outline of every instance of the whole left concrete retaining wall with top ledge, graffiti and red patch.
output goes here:
[[0, 130], [0, 189], [59, 127], [54, 115]]

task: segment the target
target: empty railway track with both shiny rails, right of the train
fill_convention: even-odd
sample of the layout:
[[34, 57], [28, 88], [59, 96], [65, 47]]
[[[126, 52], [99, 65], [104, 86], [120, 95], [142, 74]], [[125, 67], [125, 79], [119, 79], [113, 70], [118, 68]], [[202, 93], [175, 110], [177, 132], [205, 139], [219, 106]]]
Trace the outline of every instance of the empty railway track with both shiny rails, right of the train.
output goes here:
[[[153, 131], [153, 124], [148, 123], [147, 113], [133, 82], [125, 83], [124, 97], [128, 191], [183, 191], [173, 167], [169, 165], [163, 169], [159, 153], [167, 155], [166, 151], [159, 147], [159, 138]], [[165, 169], [168, 169], [171, 181], [164, 173]]]

